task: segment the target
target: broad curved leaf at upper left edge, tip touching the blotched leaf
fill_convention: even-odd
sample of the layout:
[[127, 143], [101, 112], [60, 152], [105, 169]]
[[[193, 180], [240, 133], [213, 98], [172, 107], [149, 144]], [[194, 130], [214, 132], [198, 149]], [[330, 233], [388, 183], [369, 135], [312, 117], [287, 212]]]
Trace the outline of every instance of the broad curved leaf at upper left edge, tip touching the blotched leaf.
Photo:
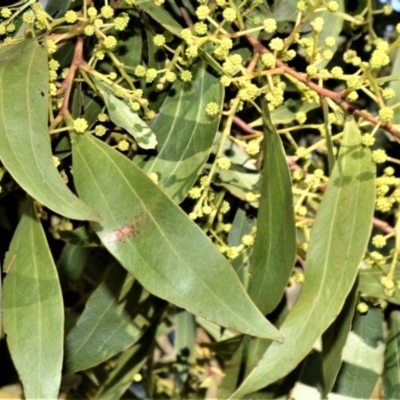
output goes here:
[[0, 158], [33, 198], [69, 218], [100, 221], [52, 160], [47, 132], [47, 52], [36, 40], [0, 47]]

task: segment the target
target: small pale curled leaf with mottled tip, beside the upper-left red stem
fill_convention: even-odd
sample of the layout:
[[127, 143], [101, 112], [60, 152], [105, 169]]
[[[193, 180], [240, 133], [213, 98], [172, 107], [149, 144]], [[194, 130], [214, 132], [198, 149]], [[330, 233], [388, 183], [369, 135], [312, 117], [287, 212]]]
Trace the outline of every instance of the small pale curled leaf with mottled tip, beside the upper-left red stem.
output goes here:
[[112, 87], [100, 79], [94, 78], [94, 81], [101, 90], [112, 122], [129, 132], [143, 149], [154, 149], [157, 139], [149, 126], [131, 110], [125, 101], [114, 95]]

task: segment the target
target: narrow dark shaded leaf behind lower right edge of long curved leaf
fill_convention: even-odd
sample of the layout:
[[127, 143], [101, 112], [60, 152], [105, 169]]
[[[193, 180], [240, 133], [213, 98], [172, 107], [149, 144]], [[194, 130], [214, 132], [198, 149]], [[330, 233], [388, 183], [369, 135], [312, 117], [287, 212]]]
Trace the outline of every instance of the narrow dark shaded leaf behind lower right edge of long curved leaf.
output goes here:
[[351, 329], [357, 300], [358, 285], [355, 284], [344, 303], [340, 314], [322, 335], [322, 369], [325, 398], [332, 390], [342, 365], [342, 351]]

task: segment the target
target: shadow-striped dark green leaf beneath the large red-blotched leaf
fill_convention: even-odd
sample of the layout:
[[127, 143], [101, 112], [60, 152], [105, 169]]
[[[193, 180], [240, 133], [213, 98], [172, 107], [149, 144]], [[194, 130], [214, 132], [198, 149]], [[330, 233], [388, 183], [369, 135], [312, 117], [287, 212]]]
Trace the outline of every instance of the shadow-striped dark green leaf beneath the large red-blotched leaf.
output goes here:
[[160, 305], [159, 299], [114, 264], [67, 336], [65, 372], [91, 368], [132, 346], [157, 317]]

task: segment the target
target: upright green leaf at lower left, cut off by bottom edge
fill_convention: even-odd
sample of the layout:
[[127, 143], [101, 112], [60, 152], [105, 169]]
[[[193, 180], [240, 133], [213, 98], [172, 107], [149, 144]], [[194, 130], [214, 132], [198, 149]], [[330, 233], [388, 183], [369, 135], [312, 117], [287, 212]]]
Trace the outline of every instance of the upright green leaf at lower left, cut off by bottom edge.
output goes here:
[[57, 399], [64, 308], [57, 271], [32, 201], [4, 263], [3, 319], [27, 399]]

